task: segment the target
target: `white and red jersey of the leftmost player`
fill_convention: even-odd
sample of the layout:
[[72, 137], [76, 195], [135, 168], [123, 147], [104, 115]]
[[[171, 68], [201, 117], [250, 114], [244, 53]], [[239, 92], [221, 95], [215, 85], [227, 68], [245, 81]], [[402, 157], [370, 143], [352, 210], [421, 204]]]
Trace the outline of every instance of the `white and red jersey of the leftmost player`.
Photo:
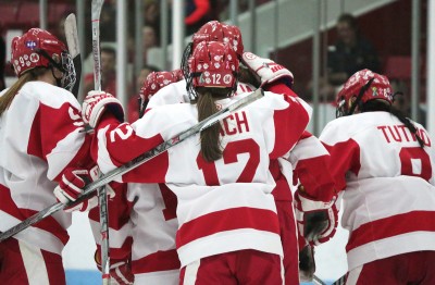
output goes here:
[[[2, 92], [2, 95], [4, 91]], [[7, 231], [57, 202], [53, 189], [62, 171], [90, 161], [80, 106], [65, 89], [24, 84], [0, 117], [0, 231]], [[71, 214], [45, 219], [14, 237], [61, 253]]]

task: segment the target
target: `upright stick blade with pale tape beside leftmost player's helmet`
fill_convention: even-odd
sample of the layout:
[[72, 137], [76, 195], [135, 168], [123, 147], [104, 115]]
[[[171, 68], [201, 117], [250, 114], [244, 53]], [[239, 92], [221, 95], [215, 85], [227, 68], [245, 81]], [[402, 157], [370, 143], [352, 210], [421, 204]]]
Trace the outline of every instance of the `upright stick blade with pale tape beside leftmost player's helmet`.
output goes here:
[[75, 96], [75, 98], [77, 98], [82, 78], [82, 55], [80, 55], [80, 47], [78, 44], [77, 22], [75, 20], [74, 13], [67, 15], [65, 20], [65, 37], [70, 55], [73, 59], [75, 76], [76, 76], [71, 92]]

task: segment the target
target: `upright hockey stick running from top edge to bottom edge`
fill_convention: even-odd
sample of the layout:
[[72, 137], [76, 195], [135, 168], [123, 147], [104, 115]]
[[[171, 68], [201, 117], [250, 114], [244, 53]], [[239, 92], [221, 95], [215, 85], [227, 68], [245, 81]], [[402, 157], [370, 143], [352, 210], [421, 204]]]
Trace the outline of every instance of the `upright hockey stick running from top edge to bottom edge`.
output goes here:
[[[94, 88], [101, 91], [101, 54], [100, 54], [100, 14], [103, 0], [92, 0], [92, 55], [94, 55]], [[98, 188], [98, 205], [101, 234], [101, 273], [102, 284], [110, 283], [110, 246], [109, 246], [109, 212], [108, 191], [104, 186]]]

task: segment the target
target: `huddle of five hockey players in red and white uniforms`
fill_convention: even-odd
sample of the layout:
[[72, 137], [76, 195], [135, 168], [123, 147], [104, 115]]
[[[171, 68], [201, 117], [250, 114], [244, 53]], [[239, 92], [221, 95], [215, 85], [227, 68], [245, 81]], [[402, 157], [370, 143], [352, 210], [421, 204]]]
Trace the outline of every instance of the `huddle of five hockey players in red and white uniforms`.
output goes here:
[[98, 197], [75, 202], [84, 187], [261, 95], [105, 185], [112, 282], [309, 282], [343, 201], [346, 284], [435, 284], [435, 152], [427, 131], [393, 106], [386, 76], [353, 74], [318, 138], [293, 73], [245, 51], [238, 27], [217, 21], [194, 34], [179, 70], [146, 78], [133, 123], [103, 90], [80, 106], [67, 49], [47, 30], [14, 38], [11, 62], [17, 80], [0, 94], [0, 231], [67, 207], [0, 243], [4, 283], [65, 284], [73, 211], [89, 212], [103, 271]]

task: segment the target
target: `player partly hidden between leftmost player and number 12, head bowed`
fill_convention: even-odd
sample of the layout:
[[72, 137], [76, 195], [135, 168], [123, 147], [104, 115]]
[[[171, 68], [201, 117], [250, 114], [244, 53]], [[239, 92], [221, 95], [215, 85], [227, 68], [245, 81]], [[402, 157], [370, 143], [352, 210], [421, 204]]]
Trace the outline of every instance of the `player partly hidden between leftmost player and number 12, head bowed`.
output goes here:
[[[152, 72], [140, 89], [140, 116], [146, 103], [162, 87], [183, 79], [179, 71]], [[110, 274], [119, 284], [178, 284], [179, 260], [175, 249], [176, 196], [165, 184], [111, 183], [117, 195], [108, 202]], [[99, 211], [89, 211], [100, 268]]]

